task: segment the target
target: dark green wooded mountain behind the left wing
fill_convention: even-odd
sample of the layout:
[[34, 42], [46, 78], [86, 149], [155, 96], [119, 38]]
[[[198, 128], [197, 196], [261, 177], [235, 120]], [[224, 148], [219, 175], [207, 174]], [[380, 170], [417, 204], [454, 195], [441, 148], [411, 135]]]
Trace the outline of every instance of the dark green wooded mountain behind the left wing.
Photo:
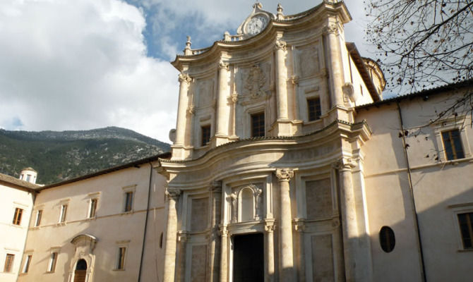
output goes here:
[[0, 173], [18, 177], [22, 168], [51, 184], [169, 152], [170, 146], [125, 128], [78, 131], [0, 129]]

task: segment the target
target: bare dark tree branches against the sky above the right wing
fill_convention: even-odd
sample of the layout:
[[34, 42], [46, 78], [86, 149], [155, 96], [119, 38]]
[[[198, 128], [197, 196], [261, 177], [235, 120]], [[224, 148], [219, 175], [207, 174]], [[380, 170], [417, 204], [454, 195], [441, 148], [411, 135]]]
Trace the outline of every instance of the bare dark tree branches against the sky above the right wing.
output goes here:
[[[473, 78], [472, 0], [366, 0], [373, 20], [366, 37], [377, 47], [390, 91], [400, 94]], [[472, 114], [465, 92], [438, 118]]]

